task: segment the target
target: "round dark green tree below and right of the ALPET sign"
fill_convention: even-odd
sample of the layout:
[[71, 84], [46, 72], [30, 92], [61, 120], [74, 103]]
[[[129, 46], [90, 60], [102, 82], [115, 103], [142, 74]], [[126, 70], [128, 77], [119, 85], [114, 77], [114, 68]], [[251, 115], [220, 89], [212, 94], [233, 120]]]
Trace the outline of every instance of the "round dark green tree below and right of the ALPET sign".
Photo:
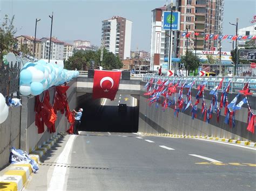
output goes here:
[[180, 56], [181, 63], [184, 63], [188, 74], [192, 70], [196, 70], [199, 67], [200, 59], [197, 55], [194, 55], [192, 51], [186, 52], [185, 55]]

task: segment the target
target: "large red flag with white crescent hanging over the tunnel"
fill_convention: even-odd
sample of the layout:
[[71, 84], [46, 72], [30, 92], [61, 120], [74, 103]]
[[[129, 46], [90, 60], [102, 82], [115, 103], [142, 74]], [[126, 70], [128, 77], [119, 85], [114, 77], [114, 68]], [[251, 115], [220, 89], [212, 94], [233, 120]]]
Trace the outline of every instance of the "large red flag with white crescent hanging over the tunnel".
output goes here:
[[109, 98], [111, 101], [116, 97], [119, 87], [121, 72], [95, 70], [93, 77], [92, 98]]

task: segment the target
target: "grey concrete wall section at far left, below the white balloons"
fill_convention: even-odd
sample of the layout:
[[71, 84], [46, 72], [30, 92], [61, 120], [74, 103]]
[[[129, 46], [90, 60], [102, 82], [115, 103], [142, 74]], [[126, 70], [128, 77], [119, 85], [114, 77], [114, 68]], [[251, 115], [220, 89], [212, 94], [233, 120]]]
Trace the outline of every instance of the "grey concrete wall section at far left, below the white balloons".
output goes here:
[[10, 148], [19, 148], [21, 106], [9, 108], [6, 121], [0, 124], [0, 170], [9, 163]]

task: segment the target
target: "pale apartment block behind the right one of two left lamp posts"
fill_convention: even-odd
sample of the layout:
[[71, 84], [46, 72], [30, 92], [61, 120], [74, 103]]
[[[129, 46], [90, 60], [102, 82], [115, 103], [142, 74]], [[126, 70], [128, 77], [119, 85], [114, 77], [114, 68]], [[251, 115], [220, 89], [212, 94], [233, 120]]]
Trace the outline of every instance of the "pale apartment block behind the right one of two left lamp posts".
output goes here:
[[[42, 38], [42, 59], [49, 59], [50, 38]], [[51, 38], [51, 60], [63, 60], [64, 42]]]

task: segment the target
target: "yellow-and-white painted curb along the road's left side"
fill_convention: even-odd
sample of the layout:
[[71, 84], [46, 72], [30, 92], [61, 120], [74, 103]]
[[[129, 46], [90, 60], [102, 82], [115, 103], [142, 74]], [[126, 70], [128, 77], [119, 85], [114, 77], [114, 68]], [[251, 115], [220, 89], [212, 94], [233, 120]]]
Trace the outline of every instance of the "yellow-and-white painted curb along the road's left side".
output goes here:
[[[47, 143], [36, 147], [35, 151], [29, 154], [29, 157], [40, 162], [40, 158], [50, 150], [62, 135], [53, 136]], [[11, 164], [4, 169], [4, 174], [0, 176], [0, 190], [21, 190], [26, 181], [31, 176], [32, 168], [29, 164]]]

